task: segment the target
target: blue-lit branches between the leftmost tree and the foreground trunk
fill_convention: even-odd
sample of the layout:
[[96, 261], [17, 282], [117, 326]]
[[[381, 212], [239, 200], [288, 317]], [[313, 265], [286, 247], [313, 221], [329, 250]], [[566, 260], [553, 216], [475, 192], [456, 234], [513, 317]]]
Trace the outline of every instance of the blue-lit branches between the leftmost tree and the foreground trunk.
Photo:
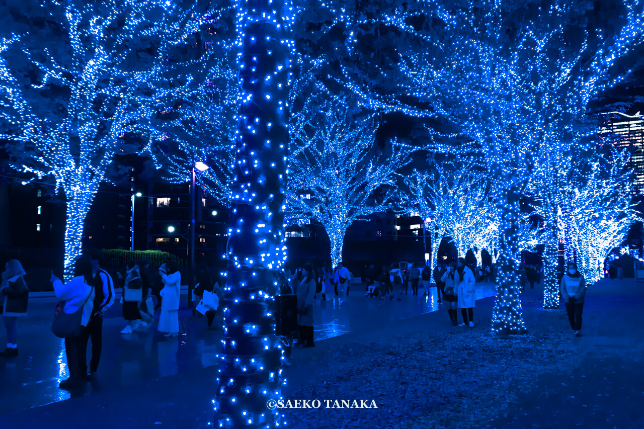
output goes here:
[[[232, 14], [232, 16], [231, 16]], [[151, 153], [161, 178], [191, 180], [195, 162], [209, 168], [196, 183], [229, 205], [234, 162], [234, 115], [237, 111], [237, 64], [234, 8], [224, 2], [207, 10], [200, 31], [165, 61], [158, 74], [146, 122]]]

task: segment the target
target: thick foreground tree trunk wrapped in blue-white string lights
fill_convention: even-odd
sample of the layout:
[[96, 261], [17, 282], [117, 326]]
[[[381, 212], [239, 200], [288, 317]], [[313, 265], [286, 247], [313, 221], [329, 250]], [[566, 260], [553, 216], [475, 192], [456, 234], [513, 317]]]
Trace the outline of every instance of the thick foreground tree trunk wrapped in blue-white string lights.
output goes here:
[[275, 273], [286, 260], [283, 233], [287, 171], [289, 23], [286, 1], [238, 3], [240, 102], [231, 186], [223, 352], [215, 427], [285, 424], [268, 401], [281, 398], [283, 349], [274, 334]]

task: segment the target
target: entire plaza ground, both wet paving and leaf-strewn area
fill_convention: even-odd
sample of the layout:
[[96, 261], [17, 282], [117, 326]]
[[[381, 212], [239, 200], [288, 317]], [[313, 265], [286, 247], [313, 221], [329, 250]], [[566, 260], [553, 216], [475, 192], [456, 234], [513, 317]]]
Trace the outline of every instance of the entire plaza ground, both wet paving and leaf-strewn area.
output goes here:
[[[316, 302], [316, 347], [294, 350], [285, 397], [374, 399], [376, 410], [289, 410], [292, 428], [644, 428], [644, 283], [589, 288], [583, 336], [563, 309], [522, 296], [529, 333], [489, 334], [493, 285], [477, 285], [473, 329], [451, 327], [434, 294], [380, 301], [359, 293]], [[422, 294], [422, 289], [421, 289]], [[216, 390], [220, 331], [180, 315], [178, 339], [154, 328], [130, 336], [120, 307], [106, 314], [97, 381], [66, 378], [62, 341], [50, 333], [52, 300], [30, 302], [20, 356], [0, 361], [0, 428], [205, 428]], [[562, 305], [563, 307], [563, 305]], [[158, 314], [157, 314], [158, 316]], [[460, 317], [460, 315], [459, 315]], [[0, 339], [1, 341], [2, 339]]]

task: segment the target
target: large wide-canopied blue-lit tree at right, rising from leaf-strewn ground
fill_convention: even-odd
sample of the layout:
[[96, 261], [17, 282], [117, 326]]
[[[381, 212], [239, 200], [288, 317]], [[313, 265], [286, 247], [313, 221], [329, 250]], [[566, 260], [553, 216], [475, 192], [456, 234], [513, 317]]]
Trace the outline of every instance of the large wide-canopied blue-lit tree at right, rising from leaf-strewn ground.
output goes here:
[[[357, 27], [401, 34], [391, 55], [395, 66], [361, 73], [364, 61], [356, 60], [338, 79], [366, 106], [440, 120], [436, 134], [462, 135], [485, 155], [500, 218], [495, 332], [525, 330], [515, 274], [520, 196], [529, 182], [540, 182], [540, 196], [562, 184], [571, 148], [584, 136], [579, 127], [589, 103], [625, 79], [629, 70], [618, 61], [643, 39], [639, 2], [618, 2], [599, 17], [593, 6], [569, 0], [394, 3]], [[531, 180], [534, 175], [543, 180]], [[554, 271], [546, 274], [553, 278]], [[555, 298], [556, 289], [547, 286], [544, 307]]]

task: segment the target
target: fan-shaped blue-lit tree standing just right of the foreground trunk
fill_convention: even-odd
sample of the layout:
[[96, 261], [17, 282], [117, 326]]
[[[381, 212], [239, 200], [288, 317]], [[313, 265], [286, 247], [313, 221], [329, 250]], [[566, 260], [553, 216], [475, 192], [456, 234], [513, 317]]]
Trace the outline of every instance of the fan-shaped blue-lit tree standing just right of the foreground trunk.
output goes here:
[[297, 152], [289, 166], [289, 216], [324, 225], [334, 266], [346, 229], [389, 207], [397, 171], [410, 162], [410, 149], [396, 142], [377, 148], [375, 116], [354, 106], [350, 99], [324, 104], [312, 97], [289, 128]]

